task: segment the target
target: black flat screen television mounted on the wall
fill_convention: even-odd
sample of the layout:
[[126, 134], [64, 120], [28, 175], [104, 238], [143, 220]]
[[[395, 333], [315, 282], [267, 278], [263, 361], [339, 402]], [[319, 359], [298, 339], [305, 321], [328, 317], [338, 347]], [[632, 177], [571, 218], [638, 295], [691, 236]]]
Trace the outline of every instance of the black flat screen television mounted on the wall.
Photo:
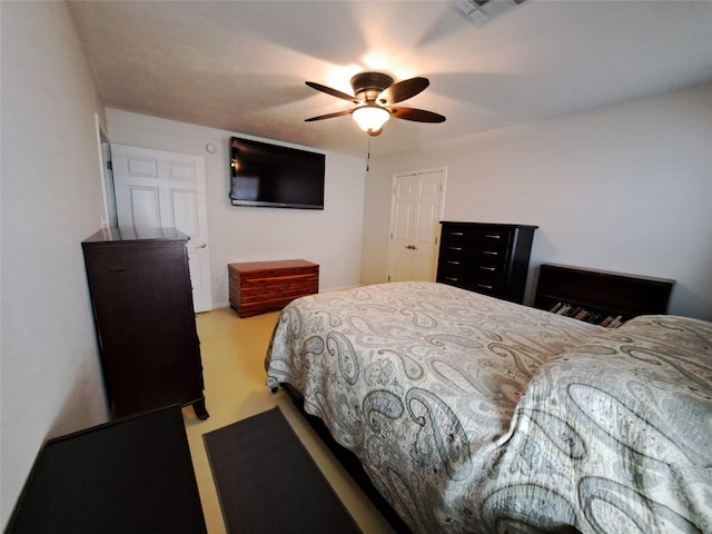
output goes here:
[[233, 206], [324, 209], [323, 154], [233, 137]]

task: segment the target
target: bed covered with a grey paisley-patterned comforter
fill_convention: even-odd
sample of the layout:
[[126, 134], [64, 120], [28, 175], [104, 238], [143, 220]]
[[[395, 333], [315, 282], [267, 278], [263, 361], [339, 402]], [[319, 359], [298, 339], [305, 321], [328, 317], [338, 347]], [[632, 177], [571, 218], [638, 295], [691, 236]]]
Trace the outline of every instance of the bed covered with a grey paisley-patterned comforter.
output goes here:
[[711, 323], [383, 284], [293, 301], [265, 365], [413, 532], [712, 532]]

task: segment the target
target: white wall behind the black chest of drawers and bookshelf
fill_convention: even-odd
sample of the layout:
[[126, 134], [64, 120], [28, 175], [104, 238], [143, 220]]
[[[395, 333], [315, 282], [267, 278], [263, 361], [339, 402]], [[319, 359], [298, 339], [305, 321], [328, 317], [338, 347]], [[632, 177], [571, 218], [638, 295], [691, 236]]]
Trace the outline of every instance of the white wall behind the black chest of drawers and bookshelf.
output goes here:
[[364, 283], [386, 277], [392, 175], [435, 166], [445, 220], [540, 226], [530, 301], [560, 263], [675, 279], [669, 312], [712, 319], [712, 86], [372, 159]]

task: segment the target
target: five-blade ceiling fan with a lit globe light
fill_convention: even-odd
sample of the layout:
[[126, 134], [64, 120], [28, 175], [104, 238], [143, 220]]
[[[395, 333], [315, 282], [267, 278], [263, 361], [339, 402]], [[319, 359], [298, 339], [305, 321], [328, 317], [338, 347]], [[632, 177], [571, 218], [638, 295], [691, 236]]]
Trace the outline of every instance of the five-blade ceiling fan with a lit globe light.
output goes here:
[[352, 78], [354, 95], [347, 95], [337, 89], [307, 81], [306, 85], [317, 91], [326, 92], [333, 97], [348, 100], [356, 105], [355, 108], [334, 113], [320, 115], [306, 119], [306, 122], [314, 120], [332, 119], [350, 115], [362, 130], [369, 136], [378, 136], [383, 131], [383, 125], [390, 117], [396, 119], [412, 120], [414, 122], [443, 122], [445, 117], [425, 109], [394, 107], [394, 103], [402, 102], [415, 97], [431, 85], [427, 78], [409, 78], [394, 83], [394, 79], [383, 72], [360, 72]]

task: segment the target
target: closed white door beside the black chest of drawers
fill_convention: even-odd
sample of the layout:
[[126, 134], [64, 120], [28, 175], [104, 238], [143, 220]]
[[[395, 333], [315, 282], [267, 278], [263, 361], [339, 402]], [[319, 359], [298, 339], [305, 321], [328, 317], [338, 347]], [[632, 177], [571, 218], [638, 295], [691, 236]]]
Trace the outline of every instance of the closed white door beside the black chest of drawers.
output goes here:
[[388, 280], [435, 280], [445, 169], [393, 177]]

